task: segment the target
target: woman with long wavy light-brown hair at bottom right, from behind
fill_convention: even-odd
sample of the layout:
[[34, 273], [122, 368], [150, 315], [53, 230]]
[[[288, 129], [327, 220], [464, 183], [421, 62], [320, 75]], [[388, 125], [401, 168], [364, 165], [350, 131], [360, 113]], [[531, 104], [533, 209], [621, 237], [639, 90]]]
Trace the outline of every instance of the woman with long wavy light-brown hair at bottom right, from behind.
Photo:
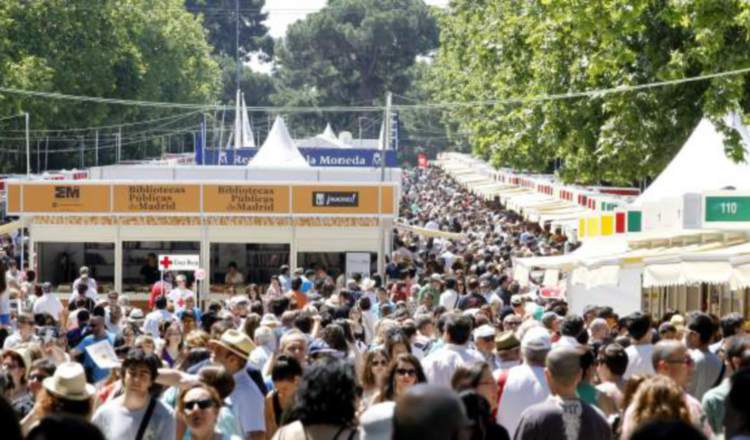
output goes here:
[[651, 376], [638, 387], [625, 410], [622, 437], [629, 439], [633, 431], [654, 420], [682, 420], [691, 423], [685, 392], [666, 376]]

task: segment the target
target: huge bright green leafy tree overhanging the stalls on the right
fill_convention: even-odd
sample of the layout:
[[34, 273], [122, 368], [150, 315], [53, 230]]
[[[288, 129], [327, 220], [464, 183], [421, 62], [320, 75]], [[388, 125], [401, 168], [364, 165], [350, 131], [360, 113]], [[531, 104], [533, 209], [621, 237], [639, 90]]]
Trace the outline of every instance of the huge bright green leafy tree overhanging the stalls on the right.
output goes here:
[[746, 67], [748, 17], [739, 0], [457, 0], [441, 21], [433, 98], [499, 101], [445, 115], [496, 164], [549, 172], [559, 159], [565, 180], [631, 184], [658, 174], [704, 115], [721, 124], [749, 110], [745, 77], [530, 98]]

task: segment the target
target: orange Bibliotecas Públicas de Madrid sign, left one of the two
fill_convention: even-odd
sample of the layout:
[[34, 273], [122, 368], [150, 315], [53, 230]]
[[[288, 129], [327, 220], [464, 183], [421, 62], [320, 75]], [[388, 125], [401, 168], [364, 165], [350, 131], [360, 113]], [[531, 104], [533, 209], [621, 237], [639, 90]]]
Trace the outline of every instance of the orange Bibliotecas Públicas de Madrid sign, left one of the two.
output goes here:
[[200, 185], [115, 185], [115, 212], [200, 212]]

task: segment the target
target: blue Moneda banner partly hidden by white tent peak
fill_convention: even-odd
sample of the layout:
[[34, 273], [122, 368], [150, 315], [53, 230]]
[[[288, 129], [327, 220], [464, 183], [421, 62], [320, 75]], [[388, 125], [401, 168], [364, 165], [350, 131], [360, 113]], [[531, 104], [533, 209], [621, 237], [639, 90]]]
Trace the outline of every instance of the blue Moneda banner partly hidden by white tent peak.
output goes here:
[[[257, 148], [241, 148], [239, 150], [209, 150], [197, 149], [195, 163], [202, 165], [247, 165], [255, 156]], [[382, 165], [382, 150], [369, 148], [305, 148], [300, 153], [313, 167], [380, 167]], [[398, 167], [396, 152], [385, 151], [385, 166]]]

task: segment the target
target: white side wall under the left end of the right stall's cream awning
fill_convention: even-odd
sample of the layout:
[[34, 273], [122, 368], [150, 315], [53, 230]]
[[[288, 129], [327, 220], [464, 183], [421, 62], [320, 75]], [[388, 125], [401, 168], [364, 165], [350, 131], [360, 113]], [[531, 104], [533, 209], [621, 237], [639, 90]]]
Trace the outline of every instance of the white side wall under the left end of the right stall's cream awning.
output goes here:
[[620, 316], [641, 310], [641, 272], [639, 267], [620, 268], [618, 284], [592, 288], [572, 284], [569, 278], [566, 296], [571, 312], [582, 315], [589, 304], [606, 304]]

